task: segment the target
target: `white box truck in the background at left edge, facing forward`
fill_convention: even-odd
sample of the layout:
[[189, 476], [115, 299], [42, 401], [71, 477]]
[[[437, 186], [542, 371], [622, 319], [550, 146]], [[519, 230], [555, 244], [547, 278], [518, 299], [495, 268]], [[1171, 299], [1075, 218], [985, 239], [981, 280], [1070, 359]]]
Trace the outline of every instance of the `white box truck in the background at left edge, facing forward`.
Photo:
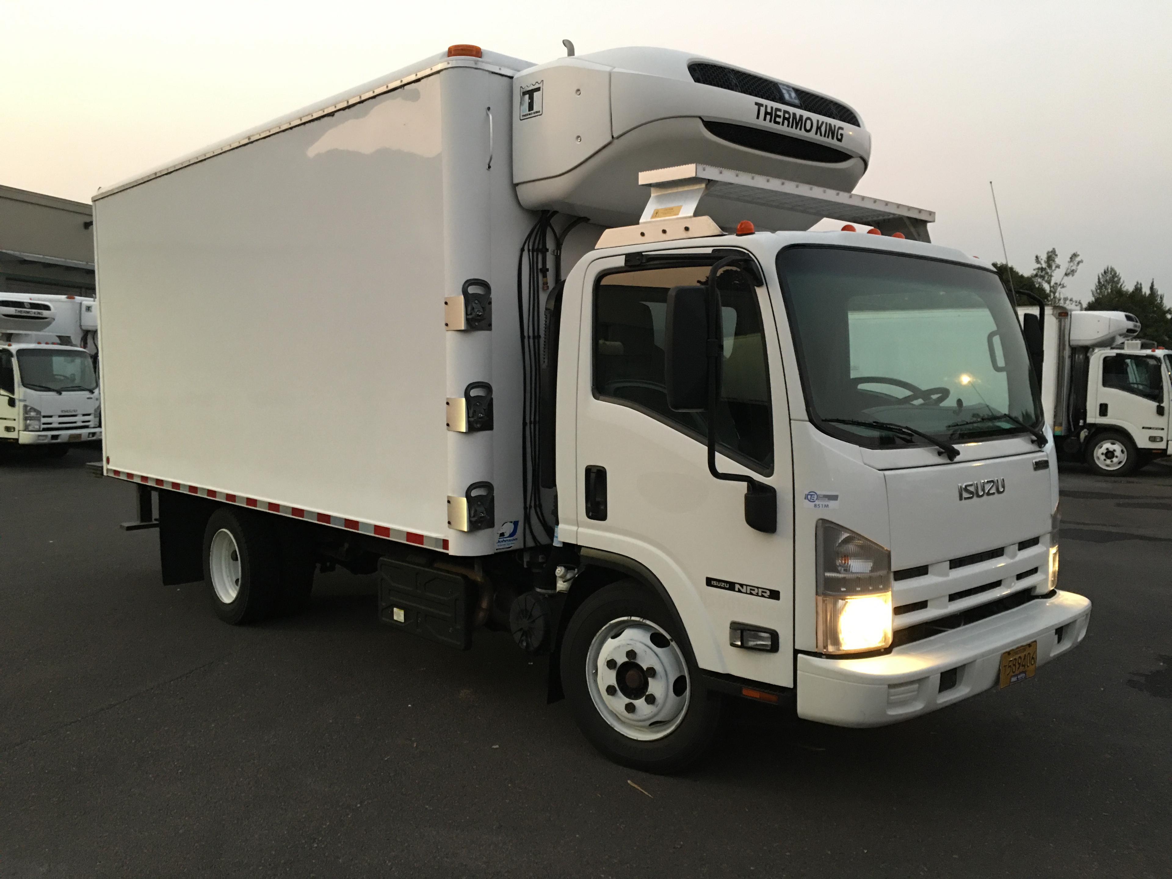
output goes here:
[[102, 437], [93, 299], [0, 292], [0, 443], [60, 457]]

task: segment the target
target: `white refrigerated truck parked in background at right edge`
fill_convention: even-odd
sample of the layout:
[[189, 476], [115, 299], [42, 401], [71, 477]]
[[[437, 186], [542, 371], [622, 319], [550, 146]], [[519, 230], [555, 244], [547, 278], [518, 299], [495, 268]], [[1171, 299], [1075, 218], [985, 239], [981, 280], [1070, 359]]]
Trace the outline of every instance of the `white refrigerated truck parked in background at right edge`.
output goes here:
[[1027, 336], [1043, 338], [1042, 403], [1059, 459], [1126, 476], [1167, 456], [1167, 361], [1134, 340], [1140, 326], [1133, 314], [1063, 306], [1018, 312]]

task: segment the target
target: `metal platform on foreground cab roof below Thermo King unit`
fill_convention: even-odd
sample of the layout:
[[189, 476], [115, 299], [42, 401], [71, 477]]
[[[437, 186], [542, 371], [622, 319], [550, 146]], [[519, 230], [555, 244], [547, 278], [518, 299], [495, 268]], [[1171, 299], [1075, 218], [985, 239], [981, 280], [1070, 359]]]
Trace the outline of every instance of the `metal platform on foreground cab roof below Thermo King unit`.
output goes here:
[[[718, 234], [716, 224], [707, 217], [696, 218], [707, 220], [703, 224], [680, 225], [677, 234], [667, 230], [655, 236], [646, 233], [646, 227], [649, 225], [662, 226], [667, 220], [677, 222], [695, 217], [701, 198], [720, 198], [745, 205], [781, 209], [819, 219], [826, 217], [845, 223], [861, 223], [874, 226], [884, 234], [899, 232], [917, 241], [932, 240], [928, 237], [928, 224], [936, 219], [934, 211], [926, 211], [922, 207], [714, 165], [690, 164], [642, 171], [639, 175], [639, 185], [650, 190], [647, 207], [643, 209], [639, 220], [640, 225], [608, 230], [599, 239], [599, 247], [616, 247], [620, 246], [620, 240], [622, 244], [634, 244], [639, 239], [648, 238], [663, 240], [674, 237]], [[668, 225], [674, 226], [677, 223]], [[704, 226], [704, 231], [701, 231], [701, 225]], [[641, 230], [642, 234], [636, 230]], [[611, 234], [619, 232], [624, 234]]]

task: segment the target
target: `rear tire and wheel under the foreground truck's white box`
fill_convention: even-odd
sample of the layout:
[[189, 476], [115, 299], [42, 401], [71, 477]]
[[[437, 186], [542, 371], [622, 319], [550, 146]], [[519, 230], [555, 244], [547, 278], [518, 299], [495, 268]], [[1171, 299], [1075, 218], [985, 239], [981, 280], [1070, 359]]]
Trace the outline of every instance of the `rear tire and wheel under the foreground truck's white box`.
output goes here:
[[267, 525], [255, 513], [220, 507], [204, 529], [204, 582], [216, 615], [232, 626], [259, 622], [273, 611], [280, 554]]

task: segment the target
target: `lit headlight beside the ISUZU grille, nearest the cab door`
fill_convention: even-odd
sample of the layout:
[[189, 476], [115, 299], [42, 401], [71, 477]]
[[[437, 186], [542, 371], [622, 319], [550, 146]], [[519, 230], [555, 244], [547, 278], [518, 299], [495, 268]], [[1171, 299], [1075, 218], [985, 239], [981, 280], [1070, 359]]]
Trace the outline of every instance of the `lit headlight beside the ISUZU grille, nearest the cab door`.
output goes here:
[[822, 653], [879, 650], [891, 645], [891, 553], [820, 519], [817, 635]]

